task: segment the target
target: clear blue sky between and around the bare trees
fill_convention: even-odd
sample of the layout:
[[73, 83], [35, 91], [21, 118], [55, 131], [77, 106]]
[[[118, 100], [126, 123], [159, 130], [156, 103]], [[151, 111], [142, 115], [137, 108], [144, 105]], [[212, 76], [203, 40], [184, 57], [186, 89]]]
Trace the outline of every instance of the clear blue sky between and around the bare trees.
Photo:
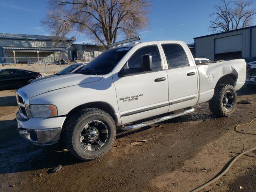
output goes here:
[[[182, 40], [193, 43], [194, 37], [211, 34], [210, 14], [218, 0], [152, 0], [149, 25], [142, 31], [142, 41]], [[0, 33], [50, 35], [41, 25], [48, 12], [46, 0], [0, 0]], [[253, 25], [256, 25], [254, 20]], [[91, 42], [76, 32], [76, 42]]]

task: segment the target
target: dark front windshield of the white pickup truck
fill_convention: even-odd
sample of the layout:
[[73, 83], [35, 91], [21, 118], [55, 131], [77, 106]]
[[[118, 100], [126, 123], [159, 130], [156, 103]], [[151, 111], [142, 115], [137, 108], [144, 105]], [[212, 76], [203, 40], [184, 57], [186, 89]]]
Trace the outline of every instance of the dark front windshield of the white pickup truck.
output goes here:
[[103, 75], [111, 72], [131, 47], [114, 48], [100, 54], [76, 73]]

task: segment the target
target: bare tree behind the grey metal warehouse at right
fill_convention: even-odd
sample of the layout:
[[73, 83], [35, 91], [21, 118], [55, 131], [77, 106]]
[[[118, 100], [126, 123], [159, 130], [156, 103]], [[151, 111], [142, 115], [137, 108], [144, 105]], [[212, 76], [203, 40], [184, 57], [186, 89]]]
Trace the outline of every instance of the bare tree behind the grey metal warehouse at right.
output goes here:
[[251, 26], [256, 15], [256, 9], [253, 8], [253, 3], [250, 0], [221, 0], [221, 3], [215, 8], [216, 12], [210, 16], [216, 18], [210, 21], [209, 27], [215, 33]]

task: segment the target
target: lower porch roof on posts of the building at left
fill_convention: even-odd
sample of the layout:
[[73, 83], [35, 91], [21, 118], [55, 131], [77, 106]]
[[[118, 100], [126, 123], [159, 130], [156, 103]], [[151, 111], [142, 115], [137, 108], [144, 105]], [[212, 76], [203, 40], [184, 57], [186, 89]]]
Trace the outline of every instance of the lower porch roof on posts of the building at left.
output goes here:
[[2, 47], [4, 50], [8, 51], [50, 51], [50, 52], [55, 52], [55, 51], [67, 51], [68, 48], [58, 48], [58, 47]]

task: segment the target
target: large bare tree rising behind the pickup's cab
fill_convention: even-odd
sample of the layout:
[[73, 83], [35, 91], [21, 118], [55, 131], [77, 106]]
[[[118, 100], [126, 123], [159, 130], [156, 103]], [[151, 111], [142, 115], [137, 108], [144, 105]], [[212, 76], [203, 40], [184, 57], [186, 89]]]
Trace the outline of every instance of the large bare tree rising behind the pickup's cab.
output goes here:
[[118, 35], [132, 37], [148, 23], [147, 0], [49, 0], [42, 21], [56, 37], [85, 33], [106, 48]]

